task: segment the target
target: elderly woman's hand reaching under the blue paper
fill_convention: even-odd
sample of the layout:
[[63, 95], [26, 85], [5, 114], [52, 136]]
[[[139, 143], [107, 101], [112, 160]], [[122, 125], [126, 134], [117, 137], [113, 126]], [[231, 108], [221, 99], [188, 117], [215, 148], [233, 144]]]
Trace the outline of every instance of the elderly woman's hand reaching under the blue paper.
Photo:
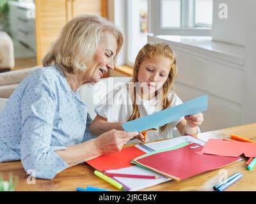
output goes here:
[[119, 152], [127, 141], [138, 135], [138, 132], [125, 132], [111, 129], [97, 137], [95, 139], [95, 144], [100, 154]]

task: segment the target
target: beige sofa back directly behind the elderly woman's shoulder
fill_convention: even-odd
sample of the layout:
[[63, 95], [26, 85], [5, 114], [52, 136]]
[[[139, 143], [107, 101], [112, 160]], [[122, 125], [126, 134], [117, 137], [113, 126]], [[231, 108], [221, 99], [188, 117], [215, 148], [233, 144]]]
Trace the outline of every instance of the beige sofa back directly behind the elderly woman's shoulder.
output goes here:
[[35, 71], [38, 68], [40, 68], [40, 66], [0, 73], [0, 98], [10, 98], [17, 85], [19, 85], [31, 71]]

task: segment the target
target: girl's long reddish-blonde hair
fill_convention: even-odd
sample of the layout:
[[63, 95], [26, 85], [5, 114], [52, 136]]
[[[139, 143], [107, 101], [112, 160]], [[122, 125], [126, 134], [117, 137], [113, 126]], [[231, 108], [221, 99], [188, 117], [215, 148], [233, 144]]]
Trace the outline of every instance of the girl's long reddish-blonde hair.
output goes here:
[[[138, 53], [136, 60], [134, 62], [134, 70], [133, 70], [133, 76], [132, 76], [132, 82], [135, 84], [138, 82], [138, 71], [140, 68], [140, 65], [145, 59], [150, 59], [151, 57], [154, 56], [162, 56], [162, 57], [167, 57], [170, 59], [171, 62], [171, 69], [170, 73], [168, 74], [168, 78], [166, 82], [163, 84], [163, 109], [166, 109], [170, 106], [172, 103], [172, 99], [168, 98], [168, 93], [170, 91], [173, 91], [173, 82], [175, 80], [175, 77], [177, 76], [177, 67], [176, 67], [176, 58], [173, 54], [172, 48], [170, 48], [169, 45], [166, 43], [147, 43], [144, 45], [143, 48], [141, 48], [140, 52]], [[138, 108], [138, 105], [136, 103], [136, 88], [134, 87], [133, 91], [133, 111], [131, 116], [129, 117], [129, 120], [134, 120], [140, 117], [140, 111]], [[164, 131], [166, 128], [166, 125], [161, 127], [161, 131]]]

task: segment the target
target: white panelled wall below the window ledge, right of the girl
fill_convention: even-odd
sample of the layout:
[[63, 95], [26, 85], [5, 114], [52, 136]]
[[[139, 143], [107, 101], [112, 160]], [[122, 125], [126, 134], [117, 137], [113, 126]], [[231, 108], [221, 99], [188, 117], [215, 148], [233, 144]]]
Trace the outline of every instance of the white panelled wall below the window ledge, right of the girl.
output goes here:
[[[159, 38], [148, 37], [148, 41], [157, 42]], [[201, 131], [241, 124], [243, 64], [223, 57], [224, 54], [217, 55], [214, 51], [207, 50], [211, 55], [202, 48], [180, 45], [170, 40], [161, 41], [168, 43], [177, 57], [178, 77], [174, 91], [180, 99], [188, 101], [204, 94], [209, 97]]]

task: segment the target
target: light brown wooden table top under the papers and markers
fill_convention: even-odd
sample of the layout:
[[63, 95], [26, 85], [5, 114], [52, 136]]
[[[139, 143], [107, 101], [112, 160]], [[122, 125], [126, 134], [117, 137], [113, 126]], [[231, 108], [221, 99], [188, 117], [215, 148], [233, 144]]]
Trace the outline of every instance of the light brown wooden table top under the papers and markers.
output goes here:
[[[256, 138], [256, 123], [234, 128], [220, 129], [198, 134], [198, 138], [227, 138], [230, 134], [237, 134], [246, 138]], [[256, 167], [249, 171], [246, 169], [246, 157], [243, 161], [230, 164], [219, 170], [202, 173], [190, 179], [175, 182], [173, 180], [157, 186], [148, 187], [143, 191], [212, 191], [212, 186], [218, 183], [225, 174], [227, 176], [239, 171], [243, 173], [242, 179], [228, 187], [226, 191], [256, 191]], [[53, 180], [36, 179], [36, 184], [28, 184], [26, 172], [20, 161], [0, 163], [0, 174], [8, 180], [9, 173], [19, 177], [17, 191], [76, 191], [76, 187], [97, 186], [104, 189], [117, 189], [102, 179], [93, 175], [93, 168], [88, 164], [78, 164], [59, 173]]]

